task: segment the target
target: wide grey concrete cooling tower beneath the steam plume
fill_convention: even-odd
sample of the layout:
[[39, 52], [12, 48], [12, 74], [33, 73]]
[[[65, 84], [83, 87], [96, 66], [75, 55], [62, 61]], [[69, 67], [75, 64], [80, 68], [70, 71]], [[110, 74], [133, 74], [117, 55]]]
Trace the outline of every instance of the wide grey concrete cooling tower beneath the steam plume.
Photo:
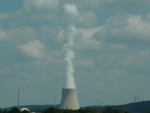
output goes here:
[[60, 109], [79, 109], [77, 89], [62, 89]]

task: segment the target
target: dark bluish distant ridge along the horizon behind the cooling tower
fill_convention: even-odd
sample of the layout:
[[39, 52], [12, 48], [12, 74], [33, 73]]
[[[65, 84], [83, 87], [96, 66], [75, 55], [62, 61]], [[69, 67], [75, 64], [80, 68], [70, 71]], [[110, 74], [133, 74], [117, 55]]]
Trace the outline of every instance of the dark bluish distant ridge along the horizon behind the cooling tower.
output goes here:
[[[16, 107], [16, 106], [13, 106]], [[8, 108], [3, 108], [6, 110], [10, 110], [13, 107], [8, 107]], [[28, 108], [30, 110], [45, 110], [49, 107], [53, 107], [53, 105], [24, 105], [20, 106], [20, 108]], [[59, 108], [59, 105], [55, 106], [56, 108]], [[87, 107], [87, 106], [85, 106]], [[112, 108], [112, 109], [118, 109], [118, 110], [128, 110], [130, 112], [138, 112], [138, 113], [145, 113], [146, 111], [150, 111], [150, 101], [141, 101], [141, 102], [136, 102], [136, 103], [129, 103], [129, 104], [124, 104], [124, 105], [107, 105], [107, 106], [88, 106], [92, 108], [100, 108], [100, 109], [107, 109], [107, 108]], [[84, 107], [83, 107], [84, 108]]]

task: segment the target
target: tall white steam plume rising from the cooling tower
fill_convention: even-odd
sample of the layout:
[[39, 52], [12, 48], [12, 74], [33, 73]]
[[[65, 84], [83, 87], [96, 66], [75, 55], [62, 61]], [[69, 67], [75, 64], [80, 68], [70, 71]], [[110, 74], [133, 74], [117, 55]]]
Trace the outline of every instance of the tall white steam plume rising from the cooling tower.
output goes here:
[[66, 81], [64, 88], [76, 88], [73, 76], [73, 60], [75, 58], [75, 55], [72, 48], [74, 46], [74, 39], [78, 34], [78, 31], [74, 25], [74, 21], [79, 14], [75, 5], [65, 4], [64, 11], [66, 14], [66, 19], [68, 20], [68, 25], [65, 30], [67, 42], [63, 45], [63, 51], [65, 52], [65, 61], [67, 63]]

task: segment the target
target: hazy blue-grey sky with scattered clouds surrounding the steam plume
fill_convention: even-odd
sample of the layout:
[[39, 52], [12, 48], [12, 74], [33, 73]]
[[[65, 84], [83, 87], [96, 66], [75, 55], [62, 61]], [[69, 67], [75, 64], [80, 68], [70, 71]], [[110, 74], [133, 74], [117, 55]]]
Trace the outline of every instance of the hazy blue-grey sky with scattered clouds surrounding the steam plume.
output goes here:
[[74, 77], [80, 106], [150, 99], [150, 0], [0, 0], [0, 107], [61, 101], [63, 6], [78, 10]]

